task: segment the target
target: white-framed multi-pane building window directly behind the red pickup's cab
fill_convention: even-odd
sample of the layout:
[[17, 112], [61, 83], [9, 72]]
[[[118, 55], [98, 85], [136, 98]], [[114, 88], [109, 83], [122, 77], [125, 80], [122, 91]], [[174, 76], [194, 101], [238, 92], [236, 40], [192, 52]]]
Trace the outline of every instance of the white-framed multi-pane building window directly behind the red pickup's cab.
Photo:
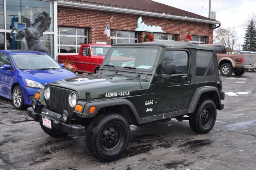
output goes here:
[[87, 28], [58, 27], [58, 53], [78, 53], [88, 43]]

